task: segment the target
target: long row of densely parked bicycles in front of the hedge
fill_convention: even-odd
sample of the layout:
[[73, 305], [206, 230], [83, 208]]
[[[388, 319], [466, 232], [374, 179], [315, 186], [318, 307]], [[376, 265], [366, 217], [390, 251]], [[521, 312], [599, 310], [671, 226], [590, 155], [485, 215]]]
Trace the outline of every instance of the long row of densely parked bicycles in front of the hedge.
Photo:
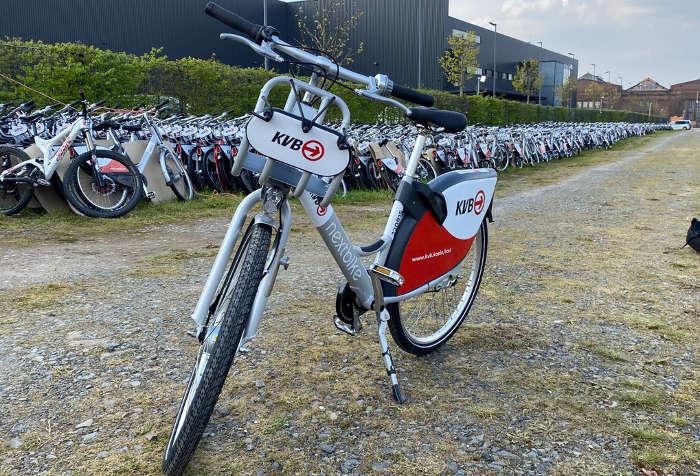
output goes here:
[[[167, 101], [128, 111], [88, 104], [84, 97], [62, 106], [0, 104], [0, 212], [16, 214], [36, 187], [54, 185], [78, 213], [123, 216], [142, 199], [153, 198], [144, 176], [151, 160], [159, 161], [164, 183], [180, 200], [192, 199], [196, 191], [250, 192], [259, 186], [254, 172], [244, 169], [237, 177], [230, 172], [248, 116], [168, 114]], [[435, 131], [416, 174], [427, 182], [460, 168], [503, 171], [608, 148], [621, 139], [667, 127], [544, 123], [471, 126], [458, 134]], [[415, 126], [362, 124], [346, 134], [353, 154], [341, 193], [396, 190], [417, 135]], [[126, 152], [125, 145], [134, 141], [147, 142], [141, 157]], [[23, 150], [32, 145], [41, 157], [32, 158]], [[67, 165], [62, 164], [64, 156], [70, 158]]]

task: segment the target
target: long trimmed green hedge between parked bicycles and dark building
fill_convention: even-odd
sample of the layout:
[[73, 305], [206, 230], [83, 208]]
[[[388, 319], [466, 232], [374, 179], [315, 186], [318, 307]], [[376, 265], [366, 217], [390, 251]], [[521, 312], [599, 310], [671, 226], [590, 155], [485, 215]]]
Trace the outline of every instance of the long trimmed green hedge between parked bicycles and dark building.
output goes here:
[[[20, 40], [0, 44], [0, 72], [63, 102], [75, 100], [82, 88], [91, 100], [106, 99], [109, 104], [122, 107], [169, 96], [176, 98], [179, 108], [185, 112], [232, 111], [237, 115], [254, 108], [261, 86], [275, 74], [259, 68], [228, 66], [213, 58], [169, 60], [158, 49], [137, 56], [75, 43]], [[400, 114], [392, 108], [368, 101], [339, 86], [334, 90], [348, 103], [355, 122], [375, 122], [380, 116], [384, 120], [400, 120]], [[483, 96], [460, 98], [443, 91], [428, 92], [435, 96], [436, 107], [466, 112], [470, 124], [649, 120], [644, 114], [626, 111], [567, 109]], [[285, 97], [284, 90], [277, 89], [271, 102], [281, 105]], [[51, 102], [0, 78], [0, 101], [17, 98], [31, 98], [38, 104]], [[663, 120], [652, 117], [654, 122]]]

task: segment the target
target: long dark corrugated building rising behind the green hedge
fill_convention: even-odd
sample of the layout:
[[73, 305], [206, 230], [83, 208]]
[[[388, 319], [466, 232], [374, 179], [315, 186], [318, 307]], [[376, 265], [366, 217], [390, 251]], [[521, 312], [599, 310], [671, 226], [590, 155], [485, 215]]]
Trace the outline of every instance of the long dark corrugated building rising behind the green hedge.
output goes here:
[[[298, 40], [295, 14], [309, 10], [317, 0], [281, 2], [267, 0], [268, 24], [285, 39]], [[144, 53], [162, 47], [171, 58], [212, 54], [221, 61], [261, 66], [262, 59], [243, 46], [222, 42], [224, 27], [204, 14], [198, 0], [4, 0], [0, 34], [46, 42], [83, 42], [100, 48]], [[257, 23], [263, 23], [264, 0], [218, 0], [218, 3]], [[60, 5], [60, 6], [59, 6]], [[8, 8], [9, 6], [9, 8]], [[479, 40], [480, 90], [491, 94], [493, 47], [496, 42], [497, 95], [522, 97], [512, 84], [516, 66], [529, 58], [541, 61], [545, 78], [543, 104], [561, 104], [560, 88], [577, 74], [577, 62], [569, 56], [542, 49], [449, 16], [449, 0], [346, 0], [345, 14], [362, 10], [351, 43], [363, 43], [353, 68], [369, 74], [387, 73], [396, 82], [412, 87], [454, 89], [443, 77], [438, 57], [448, 47], [451, 34], [473, 31]], [[480, 75], [465, 90], [477, 89]], [[576, 77], [576, 76], [574, 76]], [[536, 100], [536, 98], [535, 98]]]

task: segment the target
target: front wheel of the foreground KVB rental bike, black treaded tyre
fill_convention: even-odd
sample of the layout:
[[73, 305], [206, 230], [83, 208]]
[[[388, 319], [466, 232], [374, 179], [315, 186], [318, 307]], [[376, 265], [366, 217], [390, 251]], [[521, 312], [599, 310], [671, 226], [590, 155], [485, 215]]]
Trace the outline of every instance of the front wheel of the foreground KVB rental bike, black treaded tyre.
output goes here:
[[219, 285], [207, 334], [165, 449], [166, 475], [182, 474], [211, 418], [253, 307], [271, 236], [269, 226], [251, 224]]

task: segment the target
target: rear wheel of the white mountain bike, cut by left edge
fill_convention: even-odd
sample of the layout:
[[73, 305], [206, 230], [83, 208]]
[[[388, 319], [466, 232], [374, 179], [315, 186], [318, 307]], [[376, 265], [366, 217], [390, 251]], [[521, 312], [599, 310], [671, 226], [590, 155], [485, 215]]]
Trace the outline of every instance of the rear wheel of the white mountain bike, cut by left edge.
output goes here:
[[[22, 149], [0, 146], [0, 174], [27, 160], [30, 158]], [[8, 178], [28, 178], [36, 172], [38, 169], [34, 165], [27, 164], [15, 170]], [[29, 204], [33, 192], [34, 186], [30, 183], [0, 182], [0, 213], [15, 215], [21, 212]]]

